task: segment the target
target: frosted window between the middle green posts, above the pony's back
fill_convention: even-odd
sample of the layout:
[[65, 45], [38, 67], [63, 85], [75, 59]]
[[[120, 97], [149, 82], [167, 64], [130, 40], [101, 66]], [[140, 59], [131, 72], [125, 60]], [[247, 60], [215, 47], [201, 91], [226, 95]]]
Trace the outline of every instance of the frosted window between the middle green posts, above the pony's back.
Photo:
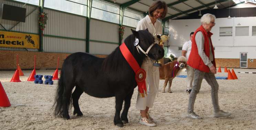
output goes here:
[[93, 0], [92, 18], [119, 24], [120, 7], [103, 0]]

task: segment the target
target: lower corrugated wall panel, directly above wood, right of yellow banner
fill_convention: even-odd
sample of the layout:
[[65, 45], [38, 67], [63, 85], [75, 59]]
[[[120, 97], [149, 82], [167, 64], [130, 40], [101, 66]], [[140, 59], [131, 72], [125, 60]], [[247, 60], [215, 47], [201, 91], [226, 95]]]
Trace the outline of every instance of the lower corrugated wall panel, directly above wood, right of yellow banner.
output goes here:
[[43, 37], [44, 52], [75, 53], [85, 52], [85, 41], [56, 37]]

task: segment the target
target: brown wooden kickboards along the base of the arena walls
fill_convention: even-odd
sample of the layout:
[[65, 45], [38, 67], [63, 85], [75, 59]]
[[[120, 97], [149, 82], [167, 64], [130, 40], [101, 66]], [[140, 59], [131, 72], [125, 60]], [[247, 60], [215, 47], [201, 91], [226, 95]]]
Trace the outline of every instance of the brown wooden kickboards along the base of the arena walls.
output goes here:
[[[31, 51], [9, 51], [0, 50], [0, 69], [17, 69], [17, 54], [19, 55], [19, 65], [21, 69], [34, 69], [34, 57], [36, 55], [35, 68], [43, 69], [56, 69], [58, 63], [58, 57], [60, 57], [58, 68], [62, 68], [63, 60], [66, 59], [66, 55], [71, 53], [50, 53], [50, 52], [31, 52]], [[95, 55], [100, 58], [105, 58], [107, 55]], [[177, 58], [175, 58], [177, 60]], [[161, 63], [164, 64], [163, 58]], [[239, 59], [215, 59], [216, 67], [221, 66], [224, 68], [239, 68]], [[248, 59], [247, 68], [256, 68], [256, 59], [254, 62], [250, 62]]]

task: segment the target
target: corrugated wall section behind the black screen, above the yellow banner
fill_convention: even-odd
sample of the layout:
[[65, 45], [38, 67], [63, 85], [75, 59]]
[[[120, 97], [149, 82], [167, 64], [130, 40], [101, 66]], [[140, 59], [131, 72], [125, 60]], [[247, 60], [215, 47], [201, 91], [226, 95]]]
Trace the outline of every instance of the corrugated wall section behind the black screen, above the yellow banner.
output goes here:
[[[13, 5], [22, 7], [24, 4], [11, 2], [11, 1], [5, 1], [5, 4]], [[26, 15], [31, 13], [35, 8], [35, 6], [25, 5], [24, 8], [26, 8]], [[38, 23], [38, 13], [39, 8], [36, 9], [33, 13], [31, 13], [28, 17], [26, 17], [25, 23], [20, 22], [18, 25], [16, 25], [14, 28], [11, 29], [11, 31], [21, 31], [26, 33], [34, 33], [38, 34], [39, 29], [39, 23]], [[0, 1], [0, 14], [2, 14], [2, 1]], [[3, 25], [4, 28], [9, 30], [11, 27], [13, 27], [15, 24], [17, 24], [17, 21], [10, 21], [10, 20], [2, 20], [2, 17], [0, 17], [0, 23]], [[0, 29], [4, 29], [2, 26], [0, 26]]]

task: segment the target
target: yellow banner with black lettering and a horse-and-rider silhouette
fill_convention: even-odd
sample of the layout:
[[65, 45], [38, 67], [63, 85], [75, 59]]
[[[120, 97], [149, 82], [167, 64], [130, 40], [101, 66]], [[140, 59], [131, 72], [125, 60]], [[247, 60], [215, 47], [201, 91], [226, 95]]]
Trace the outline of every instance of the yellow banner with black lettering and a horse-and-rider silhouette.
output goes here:
[[0, 31], [0, 46], [39, 49], [39, 35]]

